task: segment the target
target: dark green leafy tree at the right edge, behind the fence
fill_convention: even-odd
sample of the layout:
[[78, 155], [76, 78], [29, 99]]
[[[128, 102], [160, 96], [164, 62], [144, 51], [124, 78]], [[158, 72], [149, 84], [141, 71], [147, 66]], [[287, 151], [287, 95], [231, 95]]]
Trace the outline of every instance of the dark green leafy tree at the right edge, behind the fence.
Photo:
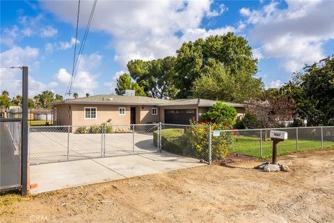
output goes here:
[[280, 91], [297, 105], [308, 125], [334, 125], [334, 56], [306, 66]]

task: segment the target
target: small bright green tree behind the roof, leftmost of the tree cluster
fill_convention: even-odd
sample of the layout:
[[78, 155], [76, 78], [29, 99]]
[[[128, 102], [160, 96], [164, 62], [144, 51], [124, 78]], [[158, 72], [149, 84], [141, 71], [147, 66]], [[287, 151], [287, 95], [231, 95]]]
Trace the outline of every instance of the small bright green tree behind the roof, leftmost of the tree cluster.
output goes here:
[[143, 87], [136, 82], [132, 82], [132, 78], [127, 73], [118, 77], [115, 92], [118, 95], [123, 95], [125, 90], [134, 90], [136, 96], [146, 96]]

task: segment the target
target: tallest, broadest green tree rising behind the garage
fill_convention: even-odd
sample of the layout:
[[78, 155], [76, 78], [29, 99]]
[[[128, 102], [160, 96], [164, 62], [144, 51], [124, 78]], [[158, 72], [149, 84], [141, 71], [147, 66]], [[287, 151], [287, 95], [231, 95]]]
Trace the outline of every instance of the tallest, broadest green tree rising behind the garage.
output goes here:
[[[218, 68], [217, 64], [223, 68]], [[225, 73], [222, 72], [219, 75], [222, 69]], [[231, 99], [221, 95], [218, 97], [220, 100], [242, 101], [248, 95], [260, 92], [262, 86], [261, 80], [255, 78], [257, 59], [253, 57], [247, 40], [242, 36], [234, 36], [233, 33], [184, 43], [177, 50], [175, 70], [177, 70], [175, 86], [179, 89], [177, 94], [179, 98], [189, 98], [192, 93], [202, 96], [203, 89], [200, 88], [200, 81], [204, 82], [202, 86], [205, 86], [206, 81], [219, 82], [225, 79], [226, 75], [228, 75], [230, 86], [235, 86], [233, 91], [236, 93], [230, 96]], [[196, 79], [203, 75], [205, 77], [198, 80], [197, 86], [193, 89]], [[221, 86], [217, 89], [221, 89]], [[246, 96], [242, 97], [241, 95], [244, 94]], [[213, 95], [215, 93], [206, 98]]]

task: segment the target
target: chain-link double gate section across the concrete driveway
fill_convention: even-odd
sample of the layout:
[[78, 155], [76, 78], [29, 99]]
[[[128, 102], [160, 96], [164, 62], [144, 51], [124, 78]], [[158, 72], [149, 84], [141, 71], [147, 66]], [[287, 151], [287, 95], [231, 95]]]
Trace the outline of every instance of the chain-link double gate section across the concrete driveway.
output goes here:
[[158, 124], [36, 126], [29, 128], [31, 164], [152, 153]]

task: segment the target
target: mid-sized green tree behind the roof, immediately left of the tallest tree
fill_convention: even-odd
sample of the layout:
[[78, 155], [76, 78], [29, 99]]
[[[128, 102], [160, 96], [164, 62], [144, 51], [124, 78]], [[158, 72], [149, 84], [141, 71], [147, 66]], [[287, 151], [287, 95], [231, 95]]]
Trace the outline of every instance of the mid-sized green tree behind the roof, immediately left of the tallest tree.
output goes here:
[[153, 98], [175, 98], [175, 57], [153, 61], [134, 60], [127, 63], [131, 77], [143, 86], [145, 93]]

